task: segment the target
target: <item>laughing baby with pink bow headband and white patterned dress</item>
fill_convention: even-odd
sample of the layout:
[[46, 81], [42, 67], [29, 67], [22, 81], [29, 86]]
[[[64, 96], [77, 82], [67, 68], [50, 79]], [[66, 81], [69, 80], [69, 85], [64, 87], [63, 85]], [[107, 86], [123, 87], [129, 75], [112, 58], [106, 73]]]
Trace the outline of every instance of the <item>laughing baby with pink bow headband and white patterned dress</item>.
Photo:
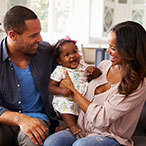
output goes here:
[[[68, 36], [65, 39], [59, 40], [54, 47], [56, 60], [59, 65], [51, 74], [48, 89], [50, 93], [54, 94], [52, 104], [55, 111], [63, 117], [67, 127], [76, 135], [80, 132], [80, 129], [76, 125], [76, 119], [80, 109], [71, 97], [71, 90], [59, 86], [61, 80], [65, 78], [64, 71], [68, 72], [74, 87], [82, 95], [86, 93], [88, 81], [100, 76], [101, 71], [80, 60], [76, 41], [71, 40]], [[64, 126], [58, 127], [56, 131], [66, 127]]]

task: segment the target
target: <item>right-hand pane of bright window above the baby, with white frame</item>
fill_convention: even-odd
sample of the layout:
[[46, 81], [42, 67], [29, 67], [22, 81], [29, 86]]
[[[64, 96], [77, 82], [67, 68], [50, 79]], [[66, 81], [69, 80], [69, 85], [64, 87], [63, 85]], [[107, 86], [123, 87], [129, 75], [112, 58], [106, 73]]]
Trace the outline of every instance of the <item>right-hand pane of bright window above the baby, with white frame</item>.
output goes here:
[[50, 0], [48, 37], [51, 42], [56, 42], [72, 30], [72, 4], [73, 0]]

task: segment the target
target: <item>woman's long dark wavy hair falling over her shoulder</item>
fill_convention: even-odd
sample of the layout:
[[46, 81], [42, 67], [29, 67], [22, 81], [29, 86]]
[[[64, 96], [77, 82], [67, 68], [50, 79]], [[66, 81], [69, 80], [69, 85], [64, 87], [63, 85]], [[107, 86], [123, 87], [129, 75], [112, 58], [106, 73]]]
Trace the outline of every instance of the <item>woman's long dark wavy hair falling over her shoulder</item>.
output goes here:
[[118, 90], [128, 96], [146, 77], [146, 31], [133, 21], [119, 23], [111, 31], [116, 34], [116, 47], [124, 68]]

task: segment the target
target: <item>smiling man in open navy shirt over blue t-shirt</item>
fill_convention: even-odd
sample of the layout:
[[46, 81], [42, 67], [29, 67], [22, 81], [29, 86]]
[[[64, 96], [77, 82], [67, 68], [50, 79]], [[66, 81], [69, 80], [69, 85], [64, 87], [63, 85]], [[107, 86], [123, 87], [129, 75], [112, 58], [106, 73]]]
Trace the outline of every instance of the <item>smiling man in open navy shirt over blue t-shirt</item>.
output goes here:
[[40, 21], [26, 7], [8, 10], [4, 28], [7, 37], [0, 43], [0, 146], [40, 146], [57, 125], [48, 96], [50, 74], [56, 66], [52, 47], [42, 42]]

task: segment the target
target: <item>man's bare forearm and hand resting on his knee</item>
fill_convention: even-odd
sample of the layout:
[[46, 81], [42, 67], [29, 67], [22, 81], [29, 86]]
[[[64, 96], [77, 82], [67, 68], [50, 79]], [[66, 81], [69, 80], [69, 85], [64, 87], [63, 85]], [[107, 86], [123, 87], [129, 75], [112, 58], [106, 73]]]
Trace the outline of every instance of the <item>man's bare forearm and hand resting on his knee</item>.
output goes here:
[[0, 116], [0, 123], [19, 126], [21, 131], [28, 135], [34, 144], [43, 144], [48, 132], [39, 119], [28, 117], [24, 114], [12, 111], [5, 111]]

